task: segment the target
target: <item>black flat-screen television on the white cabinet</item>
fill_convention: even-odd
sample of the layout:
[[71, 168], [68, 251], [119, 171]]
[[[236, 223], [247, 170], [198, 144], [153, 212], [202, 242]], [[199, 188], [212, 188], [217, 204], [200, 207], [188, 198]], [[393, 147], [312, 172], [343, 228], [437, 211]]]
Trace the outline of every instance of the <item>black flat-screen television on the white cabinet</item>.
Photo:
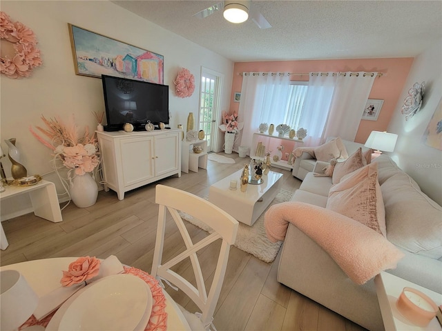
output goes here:
[[107, 130], [132, 123], [144, 130], [148, 121], [169, 124], [169, 86], [102, 75]]

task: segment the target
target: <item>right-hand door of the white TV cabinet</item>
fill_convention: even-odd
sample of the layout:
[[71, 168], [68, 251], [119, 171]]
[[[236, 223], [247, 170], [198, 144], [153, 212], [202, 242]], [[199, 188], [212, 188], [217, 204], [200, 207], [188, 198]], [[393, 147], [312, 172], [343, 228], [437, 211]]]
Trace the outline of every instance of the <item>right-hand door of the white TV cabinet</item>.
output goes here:
[[178, 169], [179, 134], [155, 136], [155, 176]]

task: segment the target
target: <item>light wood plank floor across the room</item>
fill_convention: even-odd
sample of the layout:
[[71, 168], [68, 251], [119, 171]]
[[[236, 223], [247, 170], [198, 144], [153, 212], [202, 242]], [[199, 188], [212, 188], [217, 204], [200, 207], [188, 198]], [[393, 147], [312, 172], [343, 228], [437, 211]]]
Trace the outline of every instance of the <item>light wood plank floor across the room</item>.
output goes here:
[[[221, 153], [222, 154], [222, 153]], [[235, 164], [208, 162], [208, 169], [169, 177], [157, 183], [171, 185], [201, 197], [208, 196], [209, 186], [242, 168], [249, 158], [226, 154]], [[291, 172], [273, 168], [284, 174], [282, 188], [294, 191], [300, 181]], [[64, 204], [62, 204], [64, 205]], [[122, 263], [151, 271], [155, 244], [157, 205], [155, 183], [127, 192], [119, 201], [112, 190], [100, 191], [97, 203], [77, 208], [73, 203], [63, 211], [64, 221], [51, 223], [33, 214], [4, 221], [3, 228], [10, 243], [1, 251], [1, 265], [50, 257], [95, 256], [111, 254]], [[202, 238], [206, 232], [188, 223], [191, 236]], [[164, 255], [174, 256], [184, 243], [173, 222], [166, 225]], [[218, 242], [199, 252], [207, 282], [211, 281], [215, 261], [213, 251]], [[166, 247], [172, 249], [166, 250]], [[279, 256], [278, 256], [279, 257]], [[223, 330], [364, 330], [359, 325], [298, 294], [276, 281], [278, 257], [264, 263], [236, 247], [231, 248], [224, 285], [213, 323]], [[189, 274], [189, 263], [178, 268]], [[168, 289], [173, 298], [189, 311], [196, 307], [182, 292]]]

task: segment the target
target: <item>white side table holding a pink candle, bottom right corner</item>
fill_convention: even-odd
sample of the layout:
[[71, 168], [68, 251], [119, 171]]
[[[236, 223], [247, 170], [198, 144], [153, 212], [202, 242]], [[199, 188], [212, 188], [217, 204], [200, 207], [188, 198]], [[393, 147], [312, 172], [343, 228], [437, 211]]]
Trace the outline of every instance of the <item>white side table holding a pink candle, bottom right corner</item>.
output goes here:
[[428, 324], [426, 328], [421, 328], [407, 321], [399, 312], [398, 308], [396, 308], [396, 300], [405, 287], [415, 288], [427, 294], [436, 305], [442, 304], [442, 294], [423, 288], [422, 286], [416, 285], [411, 281], [406, 281], [388, 272], [381, 272], [376, 275], [376, 277], [374, 277], [374, 284], [376, 285], [376, 293], [378, 294], [379, 308], [381, 308], [385, 330], [442, 330], [436, 317], [430, 321], [430, 324]]

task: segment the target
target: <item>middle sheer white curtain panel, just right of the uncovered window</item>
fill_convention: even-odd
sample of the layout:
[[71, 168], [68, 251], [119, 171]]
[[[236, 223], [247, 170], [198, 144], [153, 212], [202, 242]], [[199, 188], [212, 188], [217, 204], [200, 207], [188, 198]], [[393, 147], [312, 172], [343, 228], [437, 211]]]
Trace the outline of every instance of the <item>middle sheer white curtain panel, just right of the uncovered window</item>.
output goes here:
[[311, 72], [299, 128], [307, 130], [302, 146], [318, 146], [323, 138], [338, 75], [333, 72]]

